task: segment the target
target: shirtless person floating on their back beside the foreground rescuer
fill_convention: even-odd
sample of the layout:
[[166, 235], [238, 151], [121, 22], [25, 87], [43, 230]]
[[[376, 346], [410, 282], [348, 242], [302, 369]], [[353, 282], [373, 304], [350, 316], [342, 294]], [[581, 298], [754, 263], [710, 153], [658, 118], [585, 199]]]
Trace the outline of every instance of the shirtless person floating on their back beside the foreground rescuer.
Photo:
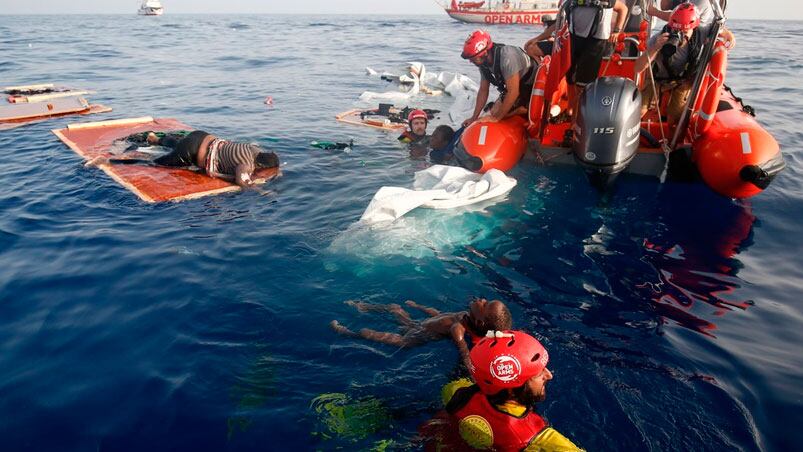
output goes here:
[[408, 307], [418, 309], [426, 313], [429, 318], [425, 320], [413, 320], [410, 314], [398, 304], [371, 304], [360, 301], [347, 301], [346, 304], [355, 307], [360, 312], [387, 312], [393, 314], [396, 321], [401, 325], [402, 334], [375, 331], [363, 328], [359, 333], [355, 333], [337, 320], [332, 320], [330, 325], [337, 333], [350, 337], [362, 337], [371, 341], [383, 344], [395, 345], [396, 347], [415, 347], [427, 342], [440, 339], [451, 338], [458, 350], [460, 357], [467, 368], [470, 369], [468, 344], [466, 336], [470, 341], [482, 339], [488, 331], [501, 331], [512, 328], [513, 320], [510, 311], [504, 303], [499, 300], [488, 301], [478, 298], [471, 301], [468, 311], [460, 312], [440, 312], [435, 308], [420, 305], [412, 300], [405, 304]]

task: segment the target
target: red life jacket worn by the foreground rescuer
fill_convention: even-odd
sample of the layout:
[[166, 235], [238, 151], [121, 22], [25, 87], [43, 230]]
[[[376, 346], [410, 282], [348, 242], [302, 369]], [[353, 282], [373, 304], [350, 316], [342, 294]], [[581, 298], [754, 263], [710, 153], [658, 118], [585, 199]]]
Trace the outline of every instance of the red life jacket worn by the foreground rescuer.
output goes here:
[[462, 440], [476, 449], [524, 450], [548, 427], [529, 407], [520, 416], [502, 411], [477, 385], [459, 389], [446, 405], [446, 412], [456, 421]]

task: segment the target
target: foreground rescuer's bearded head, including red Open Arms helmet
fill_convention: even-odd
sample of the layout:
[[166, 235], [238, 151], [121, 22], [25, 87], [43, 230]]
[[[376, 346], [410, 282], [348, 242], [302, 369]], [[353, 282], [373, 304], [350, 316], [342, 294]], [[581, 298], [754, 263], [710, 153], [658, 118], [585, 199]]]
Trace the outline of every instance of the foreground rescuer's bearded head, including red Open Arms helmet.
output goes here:
[[523, 331], [488, 333], [471, 349], [471, 376], [483, 394], [504, 403], [531, 404], [546, 398], [549, 353]]

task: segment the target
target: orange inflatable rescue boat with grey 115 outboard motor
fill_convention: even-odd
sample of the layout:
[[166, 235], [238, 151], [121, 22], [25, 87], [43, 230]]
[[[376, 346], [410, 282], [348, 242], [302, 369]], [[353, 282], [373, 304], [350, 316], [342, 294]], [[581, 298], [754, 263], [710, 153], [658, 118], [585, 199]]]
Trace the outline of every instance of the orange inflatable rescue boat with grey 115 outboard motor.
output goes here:
[[[553, 53], [534, 75], [527, 116], [480, 118], [467, 127], [455, 154], [473, 161], [464, 165], [471, 170], [505, 171], [532, 146], [539, 161], [579, 165], [603, 189], [630, 172], [661, 180], [702, 180], [729, 198], [760, 193], [785, 163], [753, 109], [724, 84], [735, 39], [714, 3], [711, 26], [698, 29], [696, 9], [681, 5], [673, 11], [678, 20], [670, 20], [652, 38], [645, 8], [641, 21], [632, 25], [631, 20], [603, 59], [600, 78], [587, 85], [576, 112], [568, 104], [565, 81], [568, 29], [558, 23]], [[663, 49], [673, 46], [689, 46], [686, 52], [697, 55], [680, 78], [660, 78], [659, 69], [675, 64]]]

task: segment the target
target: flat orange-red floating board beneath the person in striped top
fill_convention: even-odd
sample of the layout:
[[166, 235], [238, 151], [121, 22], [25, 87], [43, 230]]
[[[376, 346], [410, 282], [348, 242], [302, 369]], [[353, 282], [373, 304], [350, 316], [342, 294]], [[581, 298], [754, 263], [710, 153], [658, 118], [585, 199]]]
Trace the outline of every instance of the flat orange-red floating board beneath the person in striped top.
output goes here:
[[[175, 119], [141, 117], [70, 124], [53, 133], [78, 155], [92, 160], [112, 157], [109, 149], [114, 141], [135, 133], [192, 129]], [[146, 202], [183, 201], [240, 190], [230, 182], [183, 168], [144, 165], [100, 165], [100, 168]], [[278, 175], [278, 168], [263, 169], [255, 175], [255, 182], [264, 183]]]

